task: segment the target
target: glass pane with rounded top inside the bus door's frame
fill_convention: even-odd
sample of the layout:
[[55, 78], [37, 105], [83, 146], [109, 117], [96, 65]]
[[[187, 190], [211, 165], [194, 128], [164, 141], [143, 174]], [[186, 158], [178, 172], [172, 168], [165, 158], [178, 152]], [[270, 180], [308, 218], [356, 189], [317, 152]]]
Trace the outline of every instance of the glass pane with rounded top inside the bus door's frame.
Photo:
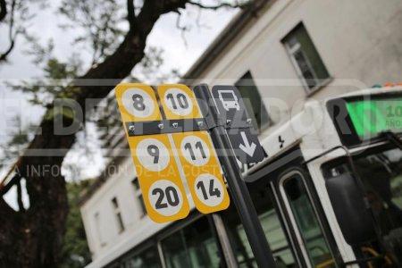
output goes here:
[[283, 189], [310, 263], [314, 267], [334, 267], [330, 248], [322, 234], [301, 174], [294, 172], [285, 179]]

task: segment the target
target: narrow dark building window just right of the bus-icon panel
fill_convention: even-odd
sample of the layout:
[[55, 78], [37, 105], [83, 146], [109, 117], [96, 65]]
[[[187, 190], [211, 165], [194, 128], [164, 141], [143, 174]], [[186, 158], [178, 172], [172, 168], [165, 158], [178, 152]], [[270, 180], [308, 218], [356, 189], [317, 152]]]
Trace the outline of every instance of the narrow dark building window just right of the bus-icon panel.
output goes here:
[[266, 111], [264, 101], [255, 86], [253, 76], [250, 71], [247, 71], [236, 83], [236, 88], [239, 89], [243, 97], [244, 104], [247, 108], [247, 113], [253, 121], [255, 130], [264, 130], [271, 125], [271, 119]]

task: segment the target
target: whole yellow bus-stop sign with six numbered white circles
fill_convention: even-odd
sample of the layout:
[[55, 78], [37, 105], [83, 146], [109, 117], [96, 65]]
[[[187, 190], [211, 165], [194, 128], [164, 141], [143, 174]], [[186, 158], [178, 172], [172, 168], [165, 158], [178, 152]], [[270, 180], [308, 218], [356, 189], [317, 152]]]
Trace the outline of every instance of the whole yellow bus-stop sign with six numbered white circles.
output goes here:
[[[125, 127], [129, 122], [147, 121], [147, 124], [158, 124], [159, 128], [164, 118], [153, 88], [143, 84], [120, 84], [115, 91]], [[187, 86], [161, 85], [157, 92], [165, 119], [203, 117], [196, 96]], [[155, 131], [155, 128], [150, 130]], [[230, 198], [208, 132], [153, 133], [133, 136], [133, 132], [126, 129], [149, 217], [155, 222], [170, 222], [188, 215], [183, 174], [194, 204], [201, 213], [226, 209]]]

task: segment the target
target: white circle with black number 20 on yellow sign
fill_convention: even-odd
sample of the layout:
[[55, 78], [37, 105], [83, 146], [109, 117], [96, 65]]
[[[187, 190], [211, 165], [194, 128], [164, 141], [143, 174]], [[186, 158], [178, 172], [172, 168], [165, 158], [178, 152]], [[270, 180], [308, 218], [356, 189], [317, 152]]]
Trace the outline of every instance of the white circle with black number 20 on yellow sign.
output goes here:
[[180, 212], [183, 197], [180, 188], [170, 180], [157, 180], [148, 192], [152, 207], [163, 216], [172, 216]]

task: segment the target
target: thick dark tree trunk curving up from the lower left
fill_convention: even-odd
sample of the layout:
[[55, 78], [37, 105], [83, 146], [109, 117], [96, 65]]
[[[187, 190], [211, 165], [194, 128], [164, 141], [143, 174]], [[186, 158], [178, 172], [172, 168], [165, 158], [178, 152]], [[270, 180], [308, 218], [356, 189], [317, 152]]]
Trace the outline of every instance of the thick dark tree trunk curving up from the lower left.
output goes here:
[[[130, 75], [130, 71], [144, 56], [147, 36], [163, 13], [184, 7], [183, 0], [148, 0], [141, 12], [130, 21], [130, 30], [116, 51], [104, 63], [90, 69], [73, 88], [80, 88], [74, 99], [84, 108], [87, 98], [103, 98], [118, 82]], [[113, 80], [103, 85], [102, 80]], [[100, 80], [99, 85], [93, 85]], [[83, 83], [92, 83], [82, 85]], [[52, 110], [52, 107], [50, 107]], [[53, 113], [48, 113], [53, 114]], [[17, 171], [27, 181], [29, 209], [15, 212], [0, 198], [0, 265], [2, 267], [57, 267], [60, 259], [65, 221], [68, 214], [65, 180], [60, 174], [63, 158], [75, 141], [72, 135], [54, 135], [54, 120], [68, 125], [71, 118], [57, 115], [44, 119], [21, 156]], [[35, 149], [62, 149], [58, 155], [29, 155]], [[41, 154], [43, 155], [43, 154]], [[38, 171], [39, 172], [34, 172]], [[57, 172], [56, 172], [57, 170]]]

